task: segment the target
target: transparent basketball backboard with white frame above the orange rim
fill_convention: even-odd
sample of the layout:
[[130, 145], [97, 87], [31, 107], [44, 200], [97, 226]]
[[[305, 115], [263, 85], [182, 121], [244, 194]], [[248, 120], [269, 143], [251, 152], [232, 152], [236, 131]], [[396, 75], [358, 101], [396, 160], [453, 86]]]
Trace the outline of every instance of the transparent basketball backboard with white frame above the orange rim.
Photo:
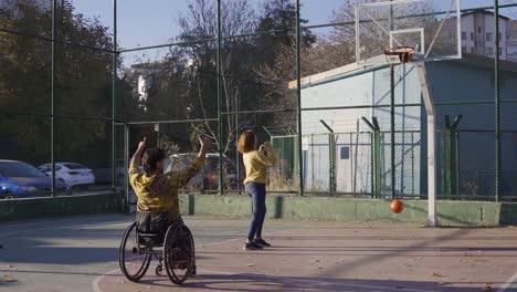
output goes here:
[[383, 51], [413, 46], [414, 62], [462, 58], [460, 0], [393, 0], [356, 6], [359, 65], [397, 64]]

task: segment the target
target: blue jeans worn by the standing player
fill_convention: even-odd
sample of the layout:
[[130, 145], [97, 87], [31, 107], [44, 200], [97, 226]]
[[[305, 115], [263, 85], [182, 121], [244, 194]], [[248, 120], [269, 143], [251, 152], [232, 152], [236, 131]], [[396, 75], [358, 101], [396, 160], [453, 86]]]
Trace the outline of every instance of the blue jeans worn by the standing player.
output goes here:
[[247, 239], [262, 237], [262, 226], [265, 219], [265, 185], [250, 181], [246, 184], [247, 196], [252, 199], [252, 219]]

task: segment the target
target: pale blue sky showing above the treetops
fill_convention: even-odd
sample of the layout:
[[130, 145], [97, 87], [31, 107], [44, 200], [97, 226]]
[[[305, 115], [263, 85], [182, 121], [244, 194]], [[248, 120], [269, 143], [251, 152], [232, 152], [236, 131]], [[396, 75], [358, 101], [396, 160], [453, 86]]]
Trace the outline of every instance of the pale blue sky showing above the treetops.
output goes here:
[[[75, 12], [88, 18], [96, 17], [113, 33], [113, 0], [70, 0]], [[178, 19], [188, 10], [188, 0], [118, 0], [117, 1], [117, 35], [122, 49], [134, 49], [166, 44], [178, 35]], [[215, 1], [215, 0], [212, 0]], [[223, 0], [232, 1], [232, 0]], [[249, 0], [257, 6], [263, 0]], [[338, 9], [348, 0], [302, 0], [302, 18], [308, 24], [330, 22], [333, 9]], [[443, 3], [444, 0], [429, 0]], [[449, 1], [447, 1], [449, 2]], [[502, 4], [517, 3], [517, 0], [499, 0]], [[492, 6], [493, 0], [462, 0], [462, 9]], [[516, 15], [517, 8], [502, 9], [502, 14]], [[329, 29], [315, 29], [314, 33], [328, 33]], [[168, 49], [146, 50], [123, 54], [124, 64], [129, 65], [139, 60], [161, 58]]]

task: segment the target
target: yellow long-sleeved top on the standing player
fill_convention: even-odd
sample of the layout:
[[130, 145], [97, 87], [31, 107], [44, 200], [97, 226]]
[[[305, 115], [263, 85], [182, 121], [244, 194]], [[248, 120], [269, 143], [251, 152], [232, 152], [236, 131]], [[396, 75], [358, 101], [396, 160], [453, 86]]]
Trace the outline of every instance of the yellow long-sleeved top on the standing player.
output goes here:
[[276, 156], [271, 152], [265, 156], [258, 150], [247, 152], [242, 155], [244, 167], [246, 168], [246, 179], [244, 185], [250, 181], [258, 184], [267, 184], [267, 167], [274, 167], [276, 164]]

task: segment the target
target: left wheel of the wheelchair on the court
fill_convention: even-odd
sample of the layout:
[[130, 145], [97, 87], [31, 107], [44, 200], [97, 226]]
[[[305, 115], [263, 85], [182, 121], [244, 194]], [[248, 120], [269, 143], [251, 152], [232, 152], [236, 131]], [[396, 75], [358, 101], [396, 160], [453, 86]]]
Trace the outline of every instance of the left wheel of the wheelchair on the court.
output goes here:
[[127, 280], [138, 282], [147, 272], [152, 254], [138, 244], [136, 222], [133, 222], [120, 241], [118, 263]]

